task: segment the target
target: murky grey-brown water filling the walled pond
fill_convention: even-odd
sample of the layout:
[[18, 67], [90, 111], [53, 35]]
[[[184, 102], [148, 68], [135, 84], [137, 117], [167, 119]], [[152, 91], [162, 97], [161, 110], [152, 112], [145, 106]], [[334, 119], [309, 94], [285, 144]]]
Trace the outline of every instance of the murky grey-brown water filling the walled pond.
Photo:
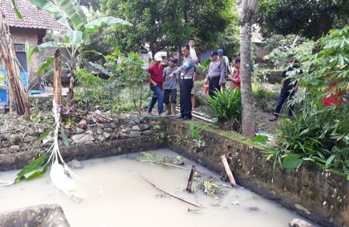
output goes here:
[[[150, 159], [156, 154], [159, 157], [178, 156], [173, 151], [161, 149], [142, 157]], [[209, 197], [198, 187], [197, 194], [188, 193], [185, 188], [190, 170], [129, 158], [137, 155], [140, 154], [83, 161], [84, 168], [74, 170], [78, 175], [74, 182], [76, 195], [83, 197], [81, 203], [75, 203], [52, 186], [49, 170], [42, 177], [0, 187], [0, 212], [39, 204], [59, 204], [71, 227], [288, 227], [294, 218], [303, 219], [243, 188], [225, 188], [226, 194], [218, 198]], [[187, 162], [185, 167], [191, 168], [192, 161]], [[199, 165], [197, 170], [217, 175]], [[0, 179], [14, 179], [18, 171], [0, 172]], [[158, 188], [204, 208], [165, 196], [143, 177]], [[229, 186], [227, 182], [215, 182]], [[235, 205], [236, 202], [240, 205]]]

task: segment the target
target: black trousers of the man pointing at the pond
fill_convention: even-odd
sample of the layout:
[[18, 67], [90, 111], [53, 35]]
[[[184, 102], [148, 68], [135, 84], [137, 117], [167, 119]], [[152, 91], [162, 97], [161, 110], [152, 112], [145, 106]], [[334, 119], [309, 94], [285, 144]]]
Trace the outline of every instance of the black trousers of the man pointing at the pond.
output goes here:
[[179, 103], [181, 117], [192, 118], [192, 86], [192, 78], [181, 79], [179, 86]]

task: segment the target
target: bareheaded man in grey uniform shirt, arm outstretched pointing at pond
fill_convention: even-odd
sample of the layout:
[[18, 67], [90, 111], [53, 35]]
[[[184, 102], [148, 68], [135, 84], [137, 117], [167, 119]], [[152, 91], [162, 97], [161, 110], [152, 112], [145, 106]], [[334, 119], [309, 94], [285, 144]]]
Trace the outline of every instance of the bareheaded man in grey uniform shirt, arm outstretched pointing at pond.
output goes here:
[[180, 118], [183, 121], [192, 119], [192, 100], [191, 91], [194, 86], [194, 69], [195, 60], [190, 54], [190, 46], [188, 44], [182, 45], [182, 54], [184, 56], [183, 65], [175, 70], [168, 77], [171, 79], [175, 74], [180, 73], [181, 81], [179, 85], [180, 95]]

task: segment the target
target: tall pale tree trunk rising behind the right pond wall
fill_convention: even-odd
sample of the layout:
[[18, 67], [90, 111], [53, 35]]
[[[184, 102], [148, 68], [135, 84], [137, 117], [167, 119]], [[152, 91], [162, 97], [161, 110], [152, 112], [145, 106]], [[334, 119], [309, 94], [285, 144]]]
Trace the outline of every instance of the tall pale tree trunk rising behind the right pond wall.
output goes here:
[[243, 0], [240, 17], [240, 67], [242, 127], [247, 137], [255, 136], [255, 118], [251, 84], [251, 27], [257, 12], [258, 0]]

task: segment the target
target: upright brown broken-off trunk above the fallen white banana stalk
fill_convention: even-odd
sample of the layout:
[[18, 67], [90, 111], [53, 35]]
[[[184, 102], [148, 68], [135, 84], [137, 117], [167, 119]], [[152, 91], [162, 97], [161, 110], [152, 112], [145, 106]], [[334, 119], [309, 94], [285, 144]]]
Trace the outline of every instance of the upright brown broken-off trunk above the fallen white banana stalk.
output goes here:
[[57, 101], [57, 105], [62, 104], [62, 61], [61, 50], [59, 48], [53, 51], [54, 71], [53, 71], [53, 100]]

